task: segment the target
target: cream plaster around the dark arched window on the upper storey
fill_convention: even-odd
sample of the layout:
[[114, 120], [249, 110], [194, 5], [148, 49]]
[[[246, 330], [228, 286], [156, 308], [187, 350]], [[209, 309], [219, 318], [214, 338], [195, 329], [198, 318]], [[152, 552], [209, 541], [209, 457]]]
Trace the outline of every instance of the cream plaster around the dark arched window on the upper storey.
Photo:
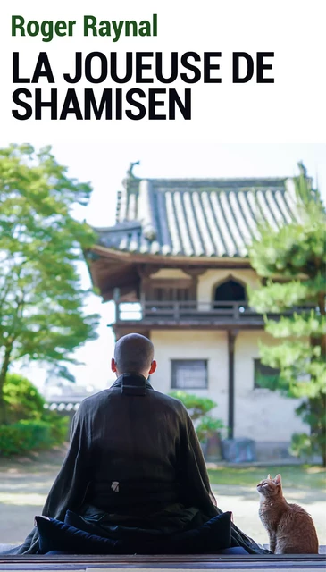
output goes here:
[[251, 288], [256, 288], [259, 284], [259, 279], [255, 270], [251, 268], [228, 269], [221, 268], [215, 270], [207, 270], [201, 274], [198, 279], [198, 300], [201, 302], [211, 302], [213, 299], [213, 292], [220, 282], [232, 277], [234, 280], [243, 282]]

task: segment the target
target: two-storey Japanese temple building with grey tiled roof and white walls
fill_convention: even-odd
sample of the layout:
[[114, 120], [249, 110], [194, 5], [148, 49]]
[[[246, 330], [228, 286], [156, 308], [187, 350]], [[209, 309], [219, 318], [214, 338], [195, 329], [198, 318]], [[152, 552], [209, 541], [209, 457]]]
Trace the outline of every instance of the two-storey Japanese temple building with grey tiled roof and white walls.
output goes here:
[[155, 389], [209, 396], [230, 437], [255, 440], [258, 458], [286, 456], [304, 427], [297, 400], [257, 383], [277, 372], [259, 359], [259, 341], [273, 340], [248, 306], [260, 279], [247, 245], [259, 223], [297, 218], [293, 180], [138, 179], [130, 169], [123, 187], [115, 225], [95, 229], [86, 253], [94, 286], [114, 300], [116, 339], [149, 337]]

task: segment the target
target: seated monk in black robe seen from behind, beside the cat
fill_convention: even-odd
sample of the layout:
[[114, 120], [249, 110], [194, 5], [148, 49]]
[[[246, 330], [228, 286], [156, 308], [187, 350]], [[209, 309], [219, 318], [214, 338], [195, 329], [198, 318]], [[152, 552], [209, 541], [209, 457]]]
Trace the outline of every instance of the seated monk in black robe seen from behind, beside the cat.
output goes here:
[[[155, 369], [154, 346], [146, 337], [131, 333], [116, 343], [117, 380], [80, 404], [45, 517], [64, 521], [68, 514], [91, 534], [137, 539], [144, 533], [148, 540], [171, 538], [222, 514], [188, 411], [153, 389], [148, 377]], [[39, 553], [38, 540], [36, 527], [11, 553]], [[230, 545], [268, 552], [233, 523]]]

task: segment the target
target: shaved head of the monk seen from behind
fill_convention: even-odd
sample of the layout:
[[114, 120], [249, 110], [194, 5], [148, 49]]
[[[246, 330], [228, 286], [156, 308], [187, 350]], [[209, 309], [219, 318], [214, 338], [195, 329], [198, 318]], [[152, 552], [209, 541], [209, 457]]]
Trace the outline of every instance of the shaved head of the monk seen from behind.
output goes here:
[[140, 333], [129, 333], [115, 344], [114, 361], [119, 374], [148, 374], [154, 359], [154, 345]]

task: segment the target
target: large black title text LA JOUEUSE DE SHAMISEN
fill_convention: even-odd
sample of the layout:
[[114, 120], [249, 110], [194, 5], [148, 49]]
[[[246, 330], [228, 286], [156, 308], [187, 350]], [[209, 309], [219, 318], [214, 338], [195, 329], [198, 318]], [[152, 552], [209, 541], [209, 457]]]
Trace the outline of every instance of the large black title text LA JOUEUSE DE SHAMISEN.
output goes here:
[[[252, 57], [246, 52], [233, 52], [232, 82], [246, 83], [255, 76], [257, 83], [272, 83], [265, 71], [272, 69], [273, 55], [258, 52]], [[13, 117], [21, 121], [70, 117], [174, 120], [178, 116], [190, 120], [189, 86], [198, 82], [222, 83], [221, 58], [221, 52], [75, 52], [71, 63], [69, 58], [64, 63], [64, 89], [62, 84], [54, 87], [57, 78], [46, 52], [39, 52], [34, 64], [24, 60], [23, 54], [13, 52], [13, 84], [20, 84], [13, 91]], [[171, 87], [174, 82], [177, 87]], [[149, 87], [150, 84], [155, 87]]]

